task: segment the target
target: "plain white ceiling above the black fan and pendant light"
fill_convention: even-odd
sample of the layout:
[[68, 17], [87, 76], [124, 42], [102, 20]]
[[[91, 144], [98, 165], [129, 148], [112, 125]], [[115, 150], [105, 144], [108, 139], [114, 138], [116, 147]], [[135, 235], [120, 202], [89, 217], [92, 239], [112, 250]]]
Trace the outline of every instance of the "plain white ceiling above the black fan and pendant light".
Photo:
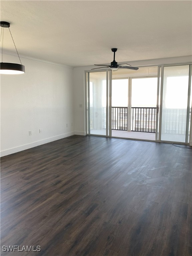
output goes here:
[[[1, 0], [20, 55], [73, 67], [192, 55], [192, 1]], [[5, 28], [6, 29], [6, 28]], [[8, 29], [4, 50], [14, 52]]]

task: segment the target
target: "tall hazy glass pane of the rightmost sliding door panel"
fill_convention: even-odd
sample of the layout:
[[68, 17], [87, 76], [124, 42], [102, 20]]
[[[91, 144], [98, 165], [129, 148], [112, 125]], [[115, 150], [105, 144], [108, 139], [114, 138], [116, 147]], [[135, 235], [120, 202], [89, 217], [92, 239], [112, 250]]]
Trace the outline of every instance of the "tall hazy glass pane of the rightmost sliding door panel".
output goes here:
[[189, 65], [164, 67], [161, 140], [185, 142], [188, 82]]

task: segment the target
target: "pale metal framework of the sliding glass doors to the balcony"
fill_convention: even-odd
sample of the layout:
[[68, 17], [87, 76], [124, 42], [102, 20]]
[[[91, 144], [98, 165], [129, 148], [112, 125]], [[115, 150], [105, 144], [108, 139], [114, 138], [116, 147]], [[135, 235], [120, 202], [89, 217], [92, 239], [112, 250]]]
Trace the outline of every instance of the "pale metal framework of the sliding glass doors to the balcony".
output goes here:
[[[149, 76], [138, 76], [138, 77], [122, 77], [122, 79], [128, 79], [128, 105], [130, 106], [131, 102], [131, 84], [132, 78], [143, 78], [143, 77], [157, 77], [157, 111], [156, 111], [156, 134], [155, 134], [155, 141], [156, 142], [163, 142], [163, 143], [177, 143], [177, 144], [189, 144], [188, 142], [188, 132], [189, 132], [189, 125], [186, 126], [186, 140], [184, 142], [173, 142], [173, 141], [162, 141], [161, 140], [161, 126], [162, 126], [162, 103], [163, 103], [163, 78], [164, 78], [164, 67], [169, 66], [184, 66], [189, 65], [189, 83], [188, 83], [188, 100], [187, 100], [187, 124], [189, 124], [189, 109], [192, 108], [190, 106], [190, 97], [191, 97], [191, 76], [192, 76], [192, 63], [175, 63], [175, 64], [162, 64], [162, 65], [147, 65], [147, 66], [140, 66], [142, 67], [157, 67], [158, 73], [157, 76], [149, 75]], [[106, 135], [97, 135], [97, 134], [90, 134], [90, 96], [89, 96], [89, 73], [91, 72], [106, 72]], [[111, 69], [102, 69], [102, 70], [86, 70], [85, 72], [85, 90], [86, 90], [86, 133], [87, 135], [93, 136], [103, 136], [103, 137], [112, 137], [112, 70]], [[121, 78], [118, 78], [121, 79]], [[161, 82], [160, 82], [161, 79]], [[128, 118], [130, 119], [130, 109], [128, 111]], [[128, 120], [129, 120], [128, 119]], [[130, 126], [130, 122], [129, 122]], [[191, 126], [192, 126], [192, 115], [191, 115]], [[192, 137], [192, 127], [190, 127], [190, 138]], [[127, 138], [129, 139], [129, 138]], [[140, 140], [140, 139], [136, 139]]]

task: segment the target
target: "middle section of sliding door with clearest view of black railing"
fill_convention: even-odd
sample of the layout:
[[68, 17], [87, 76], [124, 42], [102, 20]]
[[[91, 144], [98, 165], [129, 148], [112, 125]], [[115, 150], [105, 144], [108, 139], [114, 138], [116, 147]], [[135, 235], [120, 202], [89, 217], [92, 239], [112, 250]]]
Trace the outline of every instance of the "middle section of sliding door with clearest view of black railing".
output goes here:
[[112, 79], [112, 136], [156, 139], [157, 88], [157, 76]]

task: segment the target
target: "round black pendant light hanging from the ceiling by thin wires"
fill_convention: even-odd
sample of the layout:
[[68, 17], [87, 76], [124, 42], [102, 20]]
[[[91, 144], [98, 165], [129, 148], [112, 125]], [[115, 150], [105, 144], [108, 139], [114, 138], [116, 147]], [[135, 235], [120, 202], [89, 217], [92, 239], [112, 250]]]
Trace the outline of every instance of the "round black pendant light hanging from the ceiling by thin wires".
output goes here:
[[[0, 22], [0, 26], [2, 27], [1, 28], [1, 35], [2, 33], [4, 33], [4, 28], [9, 28], [10, 27], [10, 23], [9, 22], [6, 22], [6, 21], [1, 21]], [[3, 31], [2, 31], [3, 30]], [[9, 29], [9, 32], [11, 34], [11, 31]], [[11, 35], [12, 37], [12, 35]], [[0, 36], [0, 39], [1, 39], [1, 36]], [[12, 37], [13, 39], [13, 37]], [[14, 43], [14, 41], [13, 41]], [[15, 45], [15, 43], [14, 43]], [[15, 46], [15, 49], [17, 51], [17, 48]], [[17, 55], [19, 57], [19, 54], [17, 52]], [[20, 60], [20, 58], [19, 58]], [[2, 62], [0, 63], [0, 74], [23, 74], [25, 73], [25, 66], [22, 65], [22, 64], [17, 64], [17, 63], [7, 63], [7, 62], [3, 62], [3, 36], [2, 36]], [[20, 60], [21, 62], [21, 60]]]

